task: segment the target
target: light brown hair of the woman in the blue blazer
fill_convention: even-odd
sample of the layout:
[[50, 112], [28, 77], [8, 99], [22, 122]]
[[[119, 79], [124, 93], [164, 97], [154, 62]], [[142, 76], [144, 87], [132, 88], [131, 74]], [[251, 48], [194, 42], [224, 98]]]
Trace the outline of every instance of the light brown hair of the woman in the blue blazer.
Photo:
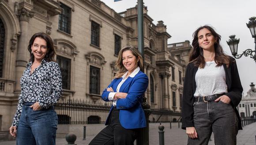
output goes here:
[[142, 58], [141, 54], [139, 53], [138, 48], [133, 47], [133, 46], [126, 46], [119, 51], [117, 63], [116, 63], [116, 66], [119, 69], [119, 71], [114, 76], [114, 79], [122, 77], [124, 75], [124, 73], [127, 72], [127, 69], [123, 65], [123, 59], [122, 59], [124, 51], [132, 51], [132, 54], [136, 57], [136, 59], [139, 58], [139, 62], [138, 62], [139, 68], [143, 68], [143, 58]]

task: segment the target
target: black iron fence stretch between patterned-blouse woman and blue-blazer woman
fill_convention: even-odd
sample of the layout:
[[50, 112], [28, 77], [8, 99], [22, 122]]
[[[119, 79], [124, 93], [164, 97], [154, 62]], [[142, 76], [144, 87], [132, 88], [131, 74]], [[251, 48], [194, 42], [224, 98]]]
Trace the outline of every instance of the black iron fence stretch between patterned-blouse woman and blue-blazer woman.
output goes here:
[[59, 124], [100, 124], [105, 123], [111, 102], [93, 102], [65, 98], [55, 105]]

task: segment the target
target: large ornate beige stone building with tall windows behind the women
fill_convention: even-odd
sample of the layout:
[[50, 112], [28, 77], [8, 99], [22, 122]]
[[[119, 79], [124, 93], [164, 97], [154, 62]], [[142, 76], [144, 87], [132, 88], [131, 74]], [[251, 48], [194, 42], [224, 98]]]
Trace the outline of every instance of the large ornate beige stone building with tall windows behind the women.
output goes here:
[[[178, 120], [189, 41], [167, 45], [166, 25], [144, 7], [145, 96], [151, 121]], [[119, 50], [137, 46], [137, 8], [117, 13], [100, 0], [0, 0], [0, 130], [8, 130], [20, 94], [34, 33], [49, 34], [63, 78], [63, 98], [102, 101]]]

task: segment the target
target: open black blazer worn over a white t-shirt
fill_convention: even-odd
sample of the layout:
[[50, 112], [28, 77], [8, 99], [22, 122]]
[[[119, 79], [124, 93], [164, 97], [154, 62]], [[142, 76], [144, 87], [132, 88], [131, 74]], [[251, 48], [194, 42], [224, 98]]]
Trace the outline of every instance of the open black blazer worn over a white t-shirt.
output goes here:
[[[236, 107], [241, 101], [243, 87], [239, 78], [236, 61], [232, 57], [230, 57], [230, 61], [231, 62], [229, 68], [227, 68], [227, 66], [223, 64], [226, 73], [226, 84], [228, 87], [228, 92], [225, 95], [227, 95], [231, 99], [230, 103], [235, 109], [238, 118], [238, 129], [241, 130], [241, 118]], [[182, 129], [186, 129], [186, 127], [194, 127], [193, 103], [194, 94], [196, 92], [195, 76], [197, 70], [198, 67], [196, 67], [193, 63], [189, 63], [186, 68], [182, 97]]]

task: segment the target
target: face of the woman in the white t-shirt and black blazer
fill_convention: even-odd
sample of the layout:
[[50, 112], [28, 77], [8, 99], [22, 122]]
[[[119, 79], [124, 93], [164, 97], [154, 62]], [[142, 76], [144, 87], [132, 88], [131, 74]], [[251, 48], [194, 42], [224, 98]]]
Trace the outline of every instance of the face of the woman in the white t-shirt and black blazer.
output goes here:
[[203, 50], [214, 50], [214, 43], [217, 41], [215, 36], [207, 28], [201, 29], [198, 34], [198, 43]]

